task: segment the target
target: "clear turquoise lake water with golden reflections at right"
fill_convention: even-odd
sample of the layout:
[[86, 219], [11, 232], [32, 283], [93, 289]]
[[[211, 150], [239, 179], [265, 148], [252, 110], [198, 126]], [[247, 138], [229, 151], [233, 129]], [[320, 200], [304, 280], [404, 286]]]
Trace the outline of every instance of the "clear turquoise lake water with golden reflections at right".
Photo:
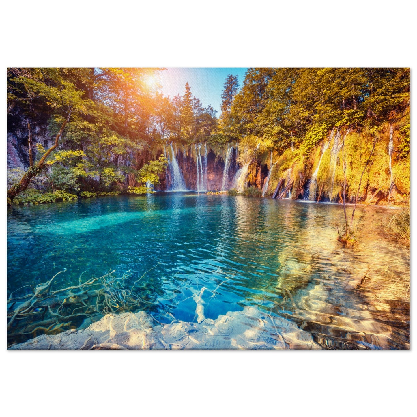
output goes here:
[[323, 348], [409, 348], [409, 302], [389, 289], [409, 282], [409, 248], [379, 234], [389, 210], [357, 214], [349, 249], [336, 240], [343, 208], [329, 204], [167, 192], [8, 208], [7, 292], [65, 268], [54, 289], [148, 271], [138, 309], [162, 323], [195, 322], [206, 287], [206, 318], [255, 306]]

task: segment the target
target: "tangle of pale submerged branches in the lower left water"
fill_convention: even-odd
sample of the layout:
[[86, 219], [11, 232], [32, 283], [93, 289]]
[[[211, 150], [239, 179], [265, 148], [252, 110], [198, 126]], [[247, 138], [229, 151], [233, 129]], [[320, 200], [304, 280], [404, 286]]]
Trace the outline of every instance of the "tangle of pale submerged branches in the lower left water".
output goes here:
[[88, 325], [108, 313], [137, 310], [147, 303], [141, 299], [140, 289], [135, 289], [135, 285], [149, 271], [130, 289], [125, 282], [126, 275], [116, 278], [116, 270], [113, 270], [85, 282], [81, 282], [81, 274], [78, 285], [54, 291], [51, 284], [58, 274], [46, 283], [38, 284], [32, 294], [12, 297], [14, 291], [8, 299], [8, 344], [80, 327], [85, 320]]

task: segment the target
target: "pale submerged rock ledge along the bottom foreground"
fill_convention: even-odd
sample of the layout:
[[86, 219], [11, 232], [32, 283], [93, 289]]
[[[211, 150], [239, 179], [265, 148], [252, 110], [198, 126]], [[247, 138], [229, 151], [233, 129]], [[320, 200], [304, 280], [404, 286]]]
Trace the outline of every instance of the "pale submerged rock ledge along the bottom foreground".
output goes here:
[[[201, 317], [200, 317], [201, 318]], [[158, 324], [144, 311], [107, 314], [86, 329], [41, 335], [10, 349], [320, 349], [311, 334], [246, 306], [216, 320]]]

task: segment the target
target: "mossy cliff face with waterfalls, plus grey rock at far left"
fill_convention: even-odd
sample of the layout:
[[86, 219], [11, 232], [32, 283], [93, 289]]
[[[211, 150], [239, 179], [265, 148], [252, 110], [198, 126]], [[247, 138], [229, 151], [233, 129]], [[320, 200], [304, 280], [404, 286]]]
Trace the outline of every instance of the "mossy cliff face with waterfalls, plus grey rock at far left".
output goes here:
[[[48, 126], [33, 127], [33, 145], [45, 148], [53, 143]], [[309, 153], [301, 148], [288, 148], [281, 154], [257, 146], [249, 159], [241, 157], [239, 143], [211, 146], [207, 143], [184, 145], [169, 143], [154, 145], [126, 156], [114, 156], [111, 162], [130, 165], [135, 170], [155, 160], [161, 154], [168, 159], [166, 172], [160, 176], [156, 190], [215, 191], [237, 188], [241, 192], [255, 188], [258, 195], [310, 201], [341, 202], [344, 172], [342, 159], [347, 161], [347, 202], [353, 202], [359, 187], [359, 201], [377, 204], [403, 204], [409, 199], [409, 153], [401, 152], [403, 138], [400, 127], [384, 126], [364, 171], [372, 139], [360, 131], [334, 128]], [[345, 156], [342, 154], [343, 144]], [[247, 150], [245, 150], [247, 153]], [[405, 155], [405, 156], [404, 156]], [[28, 133], [18, 126], [7, 134], [8, 170], [27, 170]], [[126, 174], [125, 183], [118, 183], [120, 191], [136, 183], [135, 175]], [[98, 178], [81, 180], [81, 189], [98, 185]], [[279, 189], [277, 187], [279, 186]], [[285, 191], [285, 192], [283, 192]]]

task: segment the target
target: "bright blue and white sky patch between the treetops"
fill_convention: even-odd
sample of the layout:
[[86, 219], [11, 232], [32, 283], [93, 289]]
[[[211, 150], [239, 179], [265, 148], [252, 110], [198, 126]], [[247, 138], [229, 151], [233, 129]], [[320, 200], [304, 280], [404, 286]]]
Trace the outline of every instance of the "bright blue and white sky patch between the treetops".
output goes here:
[[200, 99], [203, 107], [211, 104], [220, 116], [221, 93], [227, 75], [239, 76], [242, 86], [247, 68], [167, 68], [161, 71], [160, 83], [164, 95], [171, 98], [178, 93], [183, 95], [188, 82], [191, 93]]

